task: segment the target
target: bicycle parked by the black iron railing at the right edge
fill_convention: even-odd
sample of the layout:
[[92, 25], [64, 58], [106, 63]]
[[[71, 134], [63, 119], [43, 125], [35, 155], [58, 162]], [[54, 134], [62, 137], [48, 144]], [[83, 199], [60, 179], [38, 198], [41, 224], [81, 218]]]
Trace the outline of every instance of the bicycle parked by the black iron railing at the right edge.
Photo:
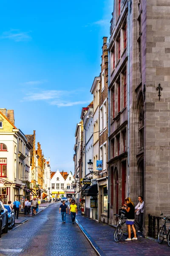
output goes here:
[[166, 228], [166, 223], [167, 221], [170, 222], [170, 216], [165, 216], [163, 215], [163, 213], [161, 213], [160, 216], [163, 216], [164, 218], [164, 223], [161, 225], [160, 229], [159, 229], [159, 233], [158, 233], [158, 242], [159, 244], [162, 244], [164, 239], [166, 238], [167, 239], [167, 243], [168, 243], [168, 246], [170, 247], [170, 227], [169, 227], [169, 230], [167, 231], [167, 228]]

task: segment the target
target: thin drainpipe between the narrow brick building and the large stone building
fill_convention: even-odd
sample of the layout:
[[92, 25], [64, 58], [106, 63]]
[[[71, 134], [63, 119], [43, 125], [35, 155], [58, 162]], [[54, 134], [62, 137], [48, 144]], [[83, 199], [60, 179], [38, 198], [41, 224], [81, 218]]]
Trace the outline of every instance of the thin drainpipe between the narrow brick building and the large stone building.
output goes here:
[[[110, 42], [107, 44], [109, 47]], [[110, 52], [108, 50], [108, 86], [110, 85]], [[108, 137], [111, 133], [111, 109], [110, 109], [110, 90], [108, 89]], [[110, 160], [110, 140], [108, 139], [108, 160]], [[110, 218], [110, 166], [108, 166], [108, 224]]]

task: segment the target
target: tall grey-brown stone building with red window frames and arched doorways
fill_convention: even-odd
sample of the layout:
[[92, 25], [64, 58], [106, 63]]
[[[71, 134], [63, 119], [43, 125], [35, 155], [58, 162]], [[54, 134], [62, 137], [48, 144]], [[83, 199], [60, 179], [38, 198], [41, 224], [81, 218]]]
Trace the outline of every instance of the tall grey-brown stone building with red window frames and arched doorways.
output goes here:
[[[127, 195], [148, 214], [170, 212], [170, 6], [116, 0], [110, 37], [110, 222]], [[128, 44], [129, 43], [129, 44]], [[160, 86], [162, 90], [159, 90]], [[129, 164], [127, 164], [129, 163]]]

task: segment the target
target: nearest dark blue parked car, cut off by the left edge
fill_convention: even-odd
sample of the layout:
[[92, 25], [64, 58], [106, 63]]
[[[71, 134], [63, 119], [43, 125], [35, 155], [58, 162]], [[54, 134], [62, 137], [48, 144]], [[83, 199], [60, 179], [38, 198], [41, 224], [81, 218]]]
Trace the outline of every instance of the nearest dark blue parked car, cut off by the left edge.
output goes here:
[[8, 232], [8, 210], [5, 209], [3, 202], [0, 201], [0, 237], [2, 234]]

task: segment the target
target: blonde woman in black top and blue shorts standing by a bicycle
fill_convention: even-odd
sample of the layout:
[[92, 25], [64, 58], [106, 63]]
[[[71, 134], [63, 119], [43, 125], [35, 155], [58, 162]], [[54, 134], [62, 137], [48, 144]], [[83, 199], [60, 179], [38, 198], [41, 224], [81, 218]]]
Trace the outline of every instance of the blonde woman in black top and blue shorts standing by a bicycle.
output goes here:
[[[122, 209], [126, 210], [126, 224], [127, 224], [127, 230], [128, 230], [128, 238], [125, 239], [126, 241], [130, 241], [130, 240], [137, 240], [136, 237], [136, 229], [134, 226], [134, 222], [135, 222], [135, 206], [133, 204], [133, 202], [131, 201], [131, 199], [129, 197], [125, 198], [125, 204], [124, 207], [122, 207]], [[131, 227], [134, 233], [134, 237], [131, 239]]]

